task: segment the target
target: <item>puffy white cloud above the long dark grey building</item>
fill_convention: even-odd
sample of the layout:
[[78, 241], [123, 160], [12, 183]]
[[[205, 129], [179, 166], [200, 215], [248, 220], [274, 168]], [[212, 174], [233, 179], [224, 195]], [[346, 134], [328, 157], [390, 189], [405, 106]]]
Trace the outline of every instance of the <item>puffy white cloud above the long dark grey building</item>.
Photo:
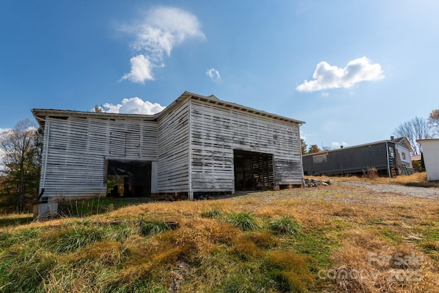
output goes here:
[[331, 66], [320, 62], [313, 73], [311, 81], [305, 80], [297, 86], [297, 91], [320, 91], [324, 89], [349, 88], [358, 82], [379, 80], [384, 78], [383, 69], [379, 63], [370, 64], [366, 57], [348, 62], [344, 68]]

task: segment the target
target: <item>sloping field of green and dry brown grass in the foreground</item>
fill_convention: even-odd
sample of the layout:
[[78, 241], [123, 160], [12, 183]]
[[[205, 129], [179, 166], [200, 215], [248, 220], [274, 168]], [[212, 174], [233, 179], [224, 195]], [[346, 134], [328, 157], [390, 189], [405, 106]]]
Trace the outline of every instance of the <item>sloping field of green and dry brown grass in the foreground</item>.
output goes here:
[[439, 292], [438, 199], [342, 184], [422, 176], [15, 220], [0, 292]]

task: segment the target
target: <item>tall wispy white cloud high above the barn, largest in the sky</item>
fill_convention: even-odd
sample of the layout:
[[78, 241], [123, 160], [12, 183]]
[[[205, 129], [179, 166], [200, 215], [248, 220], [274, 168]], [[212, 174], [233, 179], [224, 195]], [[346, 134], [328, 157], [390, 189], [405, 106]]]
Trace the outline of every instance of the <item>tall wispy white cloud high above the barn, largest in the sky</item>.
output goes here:
[[152, 70], [163, 67], [165, 56], [188, 38], [205, 36], [201, 25], [193, 14], [173, 7], [158, 7], [147, 12], [145, 19], [137, 25], [124, 25], [123, 32], [135, 36], [131, 47], [136, 56], [132, 57], [131, 71], [123, 75], [121, 80], [145, 83], [154, 80]]

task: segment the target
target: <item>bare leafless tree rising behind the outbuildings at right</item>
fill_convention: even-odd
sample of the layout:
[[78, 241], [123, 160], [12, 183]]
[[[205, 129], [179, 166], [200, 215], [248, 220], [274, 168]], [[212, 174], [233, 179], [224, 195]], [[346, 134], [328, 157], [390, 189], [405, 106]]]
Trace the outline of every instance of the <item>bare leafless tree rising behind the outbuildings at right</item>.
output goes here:
[[416, 140], [431, 138], [431, 125], [422, 117], [414, 117], [410, 121], [399, 124], [393, 133], [396, 137], [405, 137], [413, 149], [412, 155], [417, 155], [420, 154], [421, 148]]

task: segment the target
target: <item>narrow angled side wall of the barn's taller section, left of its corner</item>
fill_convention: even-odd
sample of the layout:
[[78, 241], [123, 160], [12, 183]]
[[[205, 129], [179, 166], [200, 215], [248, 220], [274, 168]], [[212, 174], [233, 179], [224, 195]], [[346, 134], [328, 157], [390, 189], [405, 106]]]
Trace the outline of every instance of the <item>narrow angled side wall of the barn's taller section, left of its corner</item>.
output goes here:
[[158, 192], [189, 191], [189, 102], [158, 119]]

